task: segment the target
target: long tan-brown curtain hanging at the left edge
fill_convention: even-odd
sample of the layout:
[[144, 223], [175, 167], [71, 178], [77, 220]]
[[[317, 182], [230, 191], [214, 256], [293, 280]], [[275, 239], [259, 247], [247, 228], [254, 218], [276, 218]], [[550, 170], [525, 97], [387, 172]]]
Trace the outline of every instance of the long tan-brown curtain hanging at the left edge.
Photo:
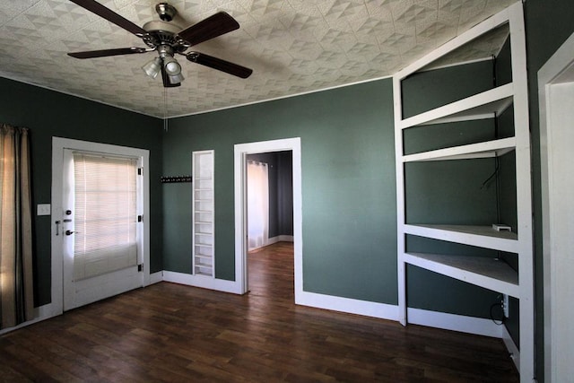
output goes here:
[[33, 318], [28, 129], [0, 125], [0, 328]]

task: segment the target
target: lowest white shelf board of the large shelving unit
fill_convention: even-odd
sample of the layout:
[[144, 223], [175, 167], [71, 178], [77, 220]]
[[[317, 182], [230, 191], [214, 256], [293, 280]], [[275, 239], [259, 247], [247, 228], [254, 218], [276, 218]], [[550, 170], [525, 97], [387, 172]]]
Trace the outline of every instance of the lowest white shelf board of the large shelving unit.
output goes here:
[[520, 298], [517, 272], [506, 262], [495, 258], [406, 253], [403, 260], [459, 281]]

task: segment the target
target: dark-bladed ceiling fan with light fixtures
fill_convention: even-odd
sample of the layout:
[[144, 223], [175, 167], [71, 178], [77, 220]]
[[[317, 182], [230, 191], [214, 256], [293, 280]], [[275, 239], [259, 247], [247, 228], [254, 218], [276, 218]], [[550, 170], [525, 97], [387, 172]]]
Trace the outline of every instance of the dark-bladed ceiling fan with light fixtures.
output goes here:
[[253, 73], [253, 70], [245, 66], [233, 64], [221, 58], [208, 56], [196, 51], [187, 52], [187, 48], [193, 47], [208, 39], [221, 36], [231, 30], [239, 29], [239, 23], [236, 22], [229, 13], [215, 13], [213, 16], [182, 30], [178, 25], [170, 23], [178, 11], [168, 3], [160, 3], [155, 6], [155, 10], [160, 15], [161, 21], [146, 22], [143, 24], [143, 27], [139, 27], [95, 0], [70, 1], [109, 22], [113, 22], [118, 27], [135, 34], [135, 36], [143, 40], [147, 48], [131, 47], [88, 50], [68, 53], [68, 56], [75, 58], [93, 58], [157, 51], [158, 57], [155, 57], [152, 61], [143, 65], [142, 69], [145, 74], [152, 78], [157, 77], [157, 75], [161, 73], [163, 86], [166, 88], [179, 86], [184, 80], [181, 74], [181, 65], [179, 65], [178, 60], [174, 57], [176, 54], [185, 56], [187, 60], [192, 63], [208, 66], [240, 78], [248, 78], [249, 75]]

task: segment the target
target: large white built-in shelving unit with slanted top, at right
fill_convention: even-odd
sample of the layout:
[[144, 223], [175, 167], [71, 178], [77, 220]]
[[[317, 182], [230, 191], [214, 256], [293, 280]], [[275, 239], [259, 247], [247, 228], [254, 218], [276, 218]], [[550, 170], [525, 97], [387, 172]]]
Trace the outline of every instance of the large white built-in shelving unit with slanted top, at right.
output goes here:
[[[404, 118], [402, 83], [415, 73], [457, 48], [472, 43], [491, 30], [508, 26], [510, 39], [512, 82], [495, 86], [491, 90], [470, 95], [436, 109], [424, 111]], [[515, 362], [521, 381], [531, 382], [534, 374], [534, 270], [532, 200], [530, 180], [530, 137], [528, 127], [528, 100], [526, 85], [526, 44], [522, 3], [511, 5], [506, 10], [476, 25], [456, 39], [448, 41], [430, 55], [404, 68], [394, 76], [395, 126], [396, 126], [396, 190], [397, 190], [397, 265], [399, 320], [406, 326], [406, 265], [416, 265], [434, 273], [447, 275], [465, 283], [472, 283], [500, 292], [519, 300], [520, 352]], [[514, 135], [428, 152], [404, 154], [404, 132], [418, 127], [430, 128], [436, 124], [456, 123], [486, 118], [497, 118], [512, 107]], [[509, 110], [510, 112], [510, 110]], [[491, 225], [433, 224], [432, 222], [407, 222], [405, 166], [409, 162], [422, 161], [465, 161], [469, 159], [494, 158], [514, 155], [516, 162], [516, 232], [496, 231]], [[424, 190], [420, 190], [424, 193]], [[438, 217], [437, 223], [443, 223]], [[500, 222], [491, 222], [500, 223]], [[439, 239], [476, 248], [508, 252], [517, 255], [517, 270], [504, 260], [494, 257], [468, 255], [434, 254], [432, 251], [409, 252], [407, 237]]]

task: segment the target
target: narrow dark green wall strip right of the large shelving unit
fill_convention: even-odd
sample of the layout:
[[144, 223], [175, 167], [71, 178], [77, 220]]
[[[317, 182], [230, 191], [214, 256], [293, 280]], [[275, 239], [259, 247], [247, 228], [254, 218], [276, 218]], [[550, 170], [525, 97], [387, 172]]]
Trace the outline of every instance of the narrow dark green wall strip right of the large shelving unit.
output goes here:
[[572, 22], [574, 2], [571, 0], [528, 0], [525, 9], [535, 213], [536, 375], [538, 381], [544, 381], [544, 275], [537, 74], [561, 44], [574, 33], [574, 22]]

